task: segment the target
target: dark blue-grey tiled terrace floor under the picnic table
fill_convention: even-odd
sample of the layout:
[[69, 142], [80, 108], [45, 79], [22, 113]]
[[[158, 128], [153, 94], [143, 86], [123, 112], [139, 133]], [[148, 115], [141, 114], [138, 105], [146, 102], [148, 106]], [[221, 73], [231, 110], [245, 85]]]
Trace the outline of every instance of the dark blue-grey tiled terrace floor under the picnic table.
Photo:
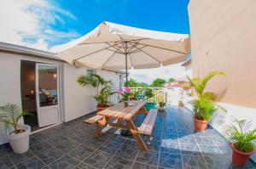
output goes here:
[[[150, 149], [140, 151], [135, 140], [123, 138], [113, 128], [93, 138], [96, 126], [85, 125], [84, 116], [31, 135], [30, 150], [15, 155], [8, 144], [0, 146], [0, 168], [167, 169], [236, 168], [230, 165], [231, 149], [218, 132], [194, 132], [189, 110], [169, 107], [159, 112]], [[144, 116], [135, 119], [140, 125]], [[256, 168], [248, 162], [244, 168]]]

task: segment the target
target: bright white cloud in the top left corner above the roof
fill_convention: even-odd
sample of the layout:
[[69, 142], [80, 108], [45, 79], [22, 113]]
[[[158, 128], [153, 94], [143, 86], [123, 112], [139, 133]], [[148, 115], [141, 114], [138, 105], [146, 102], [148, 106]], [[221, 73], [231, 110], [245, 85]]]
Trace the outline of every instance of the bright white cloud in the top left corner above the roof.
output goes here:
[[[64, 19], [65, 18], [65, 19]], [[49, 42], [79, 37], [76, 31], [55, 31], [57, 22], [77, 18], [46, 0], [3, 0], [0, 5], [0, 41], [49, 50]], [[27, 40], [26, 38], [29, 38]]]

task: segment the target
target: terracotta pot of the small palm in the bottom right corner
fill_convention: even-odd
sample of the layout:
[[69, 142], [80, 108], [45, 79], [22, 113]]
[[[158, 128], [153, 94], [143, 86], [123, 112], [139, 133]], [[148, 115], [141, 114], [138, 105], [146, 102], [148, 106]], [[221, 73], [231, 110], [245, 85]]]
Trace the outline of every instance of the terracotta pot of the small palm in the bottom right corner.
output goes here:
[[232, 164], [234, 166], [244, 166], [249, 160], [250, 156], [253, 155], [254, 151], [250, 153], [244, 153], [235, 148], [235, 144], [232, 147]]

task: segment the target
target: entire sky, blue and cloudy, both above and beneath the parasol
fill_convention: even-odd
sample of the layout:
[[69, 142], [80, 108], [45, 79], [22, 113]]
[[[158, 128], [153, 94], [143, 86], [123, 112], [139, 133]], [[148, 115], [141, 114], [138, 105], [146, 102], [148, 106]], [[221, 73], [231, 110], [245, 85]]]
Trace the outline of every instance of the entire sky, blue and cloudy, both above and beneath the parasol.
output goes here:
[[[102, 21], [189, 34], [189, 0], [1, 0], [0, 42], [51, 50], [93, 30]], [[6, 17], [8, 16], [8, 17]], [[178, 65], [131, 70], [139, 82], [184, 76]]]

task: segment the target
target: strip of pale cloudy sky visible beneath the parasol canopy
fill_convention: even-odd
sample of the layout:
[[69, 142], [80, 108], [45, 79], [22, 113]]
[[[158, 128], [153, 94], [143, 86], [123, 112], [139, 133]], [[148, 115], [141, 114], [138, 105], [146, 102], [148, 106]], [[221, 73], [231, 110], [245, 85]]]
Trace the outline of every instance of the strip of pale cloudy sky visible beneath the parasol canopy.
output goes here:
[[187, 75], [191, 76], [191, 70], [185, 70], [185, 67], [181, 66], [182, 64], [179, 63], [154, 69], [130, 70], [129, 78], [133, 78], [137, 82], [150, 84], [156, 78], [168, 80], [171, 77], [177, 79]]

